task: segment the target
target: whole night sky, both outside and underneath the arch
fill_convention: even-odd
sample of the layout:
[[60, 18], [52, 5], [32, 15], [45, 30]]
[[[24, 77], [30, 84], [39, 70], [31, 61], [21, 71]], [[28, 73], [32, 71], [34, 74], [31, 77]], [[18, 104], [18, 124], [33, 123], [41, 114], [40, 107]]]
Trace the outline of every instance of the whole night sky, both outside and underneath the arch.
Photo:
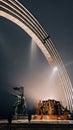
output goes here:
[[[73, 85], [73, 0], [19, 1], [51, 36]], [[48, 98], [44, 93], [50, 73], [48, 62], [36, 44], [32, 45], [32, 39], [0, 17], [0, 115], [7, 114], [15, 101], [11, 95], [14, 86], [24, 86], [26, 99]]]

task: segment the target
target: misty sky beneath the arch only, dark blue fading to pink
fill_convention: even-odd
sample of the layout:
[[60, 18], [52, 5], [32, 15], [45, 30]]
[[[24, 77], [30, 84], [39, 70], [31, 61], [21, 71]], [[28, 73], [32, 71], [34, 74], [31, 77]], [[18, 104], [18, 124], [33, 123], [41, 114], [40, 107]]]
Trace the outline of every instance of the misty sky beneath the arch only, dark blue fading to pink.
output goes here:
[[4, 18], [0, 36], [0, 112], [7, 112], [15, 102], [11, 94], [16, 86], [24, 86], [25, 98], [31, 103], [58, 100], [56, 75], [33, 39]]

